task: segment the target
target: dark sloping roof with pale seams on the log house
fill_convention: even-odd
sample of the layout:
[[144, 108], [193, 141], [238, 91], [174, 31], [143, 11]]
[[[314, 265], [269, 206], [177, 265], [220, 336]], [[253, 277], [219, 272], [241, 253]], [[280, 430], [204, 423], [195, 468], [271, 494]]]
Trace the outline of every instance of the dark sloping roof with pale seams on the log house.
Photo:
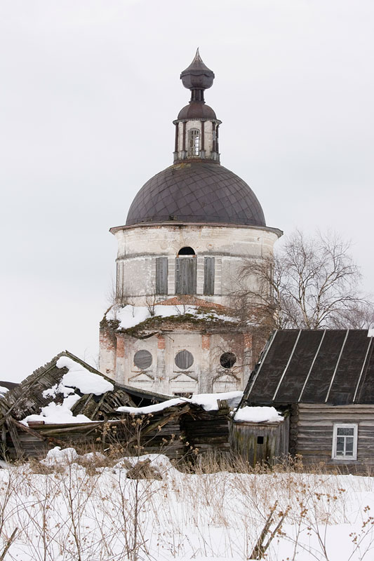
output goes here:
[[374, 404], [367, 330], [278, 330], [251, 374], [248, 404]]

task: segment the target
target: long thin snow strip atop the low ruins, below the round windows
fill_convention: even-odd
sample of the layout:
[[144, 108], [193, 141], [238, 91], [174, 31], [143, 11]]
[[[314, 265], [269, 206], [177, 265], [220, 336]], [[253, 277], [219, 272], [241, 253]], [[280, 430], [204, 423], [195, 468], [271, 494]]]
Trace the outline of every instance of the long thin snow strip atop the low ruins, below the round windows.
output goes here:
[[227, 391], [223, 393], [198, 393], [192, 398], [173, 398], [163, 401], [163, 403], [156, 403], [155, 405], [147, 405], [146, 407], [118, 407], [117, 411], [122, 413], [133, 413], [134, 415], [156, 413], [173, 407], [173, 405], [180, 405], [180, 403], [194, 403], [201, 405], [206, 411], [218, 411], [217, 400], [227, 400], [229, 407], [237, 407], [241, 398], [243, 397], [242, 391]]

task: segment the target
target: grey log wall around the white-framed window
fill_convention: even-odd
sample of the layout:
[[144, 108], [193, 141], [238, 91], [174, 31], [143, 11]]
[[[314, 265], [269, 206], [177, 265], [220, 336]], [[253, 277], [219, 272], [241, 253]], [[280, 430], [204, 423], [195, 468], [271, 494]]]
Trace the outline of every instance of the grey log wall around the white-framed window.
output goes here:
[[[333, 426], [358, 425], [357, 460], [333, 460]], [[323, 461], [346, 466], [374, 465], [374, 405], [300, 403], [290, 426], [291, 440], [305, 464]]]

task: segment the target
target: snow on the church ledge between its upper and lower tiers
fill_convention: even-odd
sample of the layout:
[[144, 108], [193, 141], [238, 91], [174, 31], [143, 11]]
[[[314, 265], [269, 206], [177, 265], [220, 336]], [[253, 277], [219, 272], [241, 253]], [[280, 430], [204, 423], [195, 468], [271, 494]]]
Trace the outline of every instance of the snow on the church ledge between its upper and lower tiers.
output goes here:
[[[218, 311], [203, 311], [199, 306], [168, 306], [168, 305], [156, 305], [152, 310], [152, 315], [158, 318], [168, 318], [170, 316], [183, 316], [186, 313], [195, 316], [196, 318], [201, 318], [211, 321], [231, 321], [236, 322], [236, 318], [226, 316], [225, 314], [220, 314]], [[112, 308], [107, 313], [107, 320], [119, 319], [119, 329], [129, 329], [130, 327], [135, 327], [143, 321], [152, 317], [148, 306], [132, 306], [128, 304], [123, 306], [123, 308]]]

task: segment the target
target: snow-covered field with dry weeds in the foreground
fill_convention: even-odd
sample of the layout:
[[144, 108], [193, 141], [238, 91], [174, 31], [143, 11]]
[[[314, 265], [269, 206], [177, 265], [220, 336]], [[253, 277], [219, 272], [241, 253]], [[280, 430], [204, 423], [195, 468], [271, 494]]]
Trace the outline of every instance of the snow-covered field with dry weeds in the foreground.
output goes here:
[[189, 475], [165, 456], [147, 458], [162, 479], [126, 478], [125, 460], [89, 469], [93, 454], [73, 449], [51, 451], [48, 474], [0, 470], [0, 555], [17, 529], [6, 561], [248, 560], [273, 509], [267, 560], [374, 558], [372, 477]]

